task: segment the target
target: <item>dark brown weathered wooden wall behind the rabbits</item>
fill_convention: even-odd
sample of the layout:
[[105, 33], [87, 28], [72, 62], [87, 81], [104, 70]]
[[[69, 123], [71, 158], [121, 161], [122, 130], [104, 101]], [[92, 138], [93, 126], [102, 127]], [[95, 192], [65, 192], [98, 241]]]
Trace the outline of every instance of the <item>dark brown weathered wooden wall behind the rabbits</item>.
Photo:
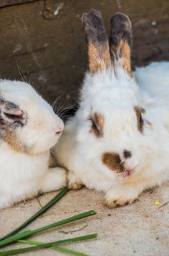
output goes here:
[[[80, 17], [101, 11], [109, 32], [116, 11], [133, 24], [133, 66], [169, 60], [168, 0], [1, 0], [0, 75], [25, 78], [50, 103], [69, 106], [77, 98], [87, 69], [87, 47]], [[14, 57], [15, 54], [15, 57]]]

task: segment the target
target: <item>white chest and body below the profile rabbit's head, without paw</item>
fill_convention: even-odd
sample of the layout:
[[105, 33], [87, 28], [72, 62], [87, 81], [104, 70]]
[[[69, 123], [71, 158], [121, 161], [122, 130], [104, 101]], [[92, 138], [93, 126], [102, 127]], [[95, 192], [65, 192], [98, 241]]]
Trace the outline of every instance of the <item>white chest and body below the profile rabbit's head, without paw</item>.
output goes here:
[[5, 143], [0, 148], [1, 207], [33, 197], [40, 190], [42, 178], [48, 170], [49, 152], [30, 156], [11, 151]]

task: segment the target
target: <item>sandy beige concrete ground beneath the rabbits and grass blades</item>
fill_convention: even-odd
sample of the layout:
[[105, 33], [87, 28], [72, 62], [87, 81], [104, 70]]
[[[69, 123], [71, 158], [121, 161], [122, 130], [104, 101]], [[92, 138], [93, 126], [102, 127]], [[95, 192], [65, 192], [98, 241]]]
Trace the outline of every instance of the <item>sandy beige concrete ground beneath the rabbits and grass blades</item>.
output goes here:
[[[0, 236], [19, 226], [45, 205], [54, 193], [19, 203], [0, 211]], [[90, 218], [53, 228], [32, 236], [34, 241], [50, 242], [97, 232], [98, 238], [83, 243], [62, 245], [81, 253], [96, 256], [169, 255], [169, 183], [144, 192], [139, 201], [117, 209], [101, 204], [103, 194], [82, 189], [69, 191], [56, 205], [25, 229], [34, 229], [81, 212], [96, 210]], [[155, 205], [155, 201], [160, 205]], [[161, 207], [160, 207], [161, 206]], [[30, 239], [30, 240], [31, 240]], [[24, 247], [13, 244], [4, 250]], [[43, 249], [25, 255], [66, 255], [52, 249]]]

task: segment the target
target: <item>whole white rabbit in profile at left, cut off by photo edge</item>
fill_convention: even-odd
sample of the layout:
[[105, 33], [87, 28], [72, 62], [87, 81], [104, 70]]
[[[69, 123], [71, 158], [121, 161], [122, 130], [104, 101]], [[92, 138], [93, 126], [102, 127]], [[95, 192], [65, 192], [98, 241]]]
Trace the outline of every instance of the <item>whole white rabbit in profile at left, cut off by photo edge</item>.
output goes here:
[[30, 84], [0, 80], [0, 209], [66, 185], [66, 170], [48, 167], [63, 129]]

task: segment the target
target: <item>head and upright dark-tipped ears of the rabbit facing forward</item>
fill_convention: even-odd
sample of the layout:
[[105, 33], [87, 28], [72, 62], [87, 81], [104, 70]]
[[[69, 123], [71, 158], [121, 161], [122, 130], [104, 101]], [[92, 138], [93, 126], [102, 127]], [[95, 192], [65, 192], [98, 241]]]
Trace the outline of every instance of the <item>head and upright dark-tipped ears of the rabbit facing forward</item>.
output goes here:
[[76, 114], [82, 159], [108, 177], [131, 179], [145, 168], [149, 152], [145, 133], [151, 129], [131, 74], [131, 22], [115, 13], [109, 42], [98, 11], [84, 13], [82, 23], [89, 49], [89, 73]]

